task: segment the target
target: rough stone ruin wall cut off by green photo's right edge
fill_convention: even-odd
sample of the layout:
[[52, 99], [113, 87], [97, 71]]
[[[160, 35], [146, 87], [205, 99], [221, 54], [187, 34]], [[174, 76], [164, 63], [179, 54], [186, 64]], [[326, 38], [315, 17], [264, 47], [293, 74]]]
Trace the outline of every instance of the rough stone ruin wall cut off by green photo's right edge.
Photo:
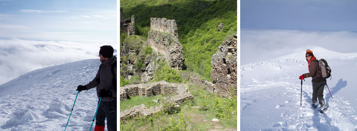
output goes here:
[[222, 43], [211, 61], [212, 81], [220, 96], [230, 98], [230, 88], [237, 95], [237, 35]]

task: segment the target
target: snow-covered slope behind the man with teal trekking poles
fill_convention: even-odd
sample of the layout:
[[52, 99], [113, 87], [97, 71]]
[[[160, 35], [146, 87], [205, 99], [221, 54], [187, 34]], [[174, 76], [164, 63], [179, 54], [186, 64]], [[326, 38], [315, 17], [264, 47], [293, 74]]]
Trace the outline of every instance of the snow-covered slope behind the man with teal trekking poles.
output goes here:
[[[100, 64], [99, 59], [89, 59], [46, 67], [2, 84], [1, 130], [63, 131], [77, 86], [93, 80]], [[80, 92], [66, 130], [89, 130], [97, 102], [95, 89]]]

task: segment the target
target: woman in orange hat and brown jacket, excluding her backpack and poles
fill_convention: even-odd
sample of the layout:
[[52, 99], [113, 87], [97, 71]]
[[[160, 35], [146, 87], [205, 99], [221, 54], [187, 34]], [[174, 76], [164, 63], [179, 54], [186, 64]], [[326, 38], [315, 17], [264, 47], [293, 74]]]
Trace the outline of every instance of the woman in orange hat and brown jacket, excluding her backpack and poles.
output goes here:
[[307, 77], [312, 77], [312, 107], [317, 107], [317, 98], [320, 103], [321, 113], [327, 110], [325, 100], [323, 99], [323, 87], [326, 85], [326, 79], [321, 78], [320, 74], [317, 73], [318, 70], [318, 61], [313, 55], [312, 51], [306, 50], [306, 60], [308, 63], [309, 72], [301, 75], [300, 80], [303, 80]]

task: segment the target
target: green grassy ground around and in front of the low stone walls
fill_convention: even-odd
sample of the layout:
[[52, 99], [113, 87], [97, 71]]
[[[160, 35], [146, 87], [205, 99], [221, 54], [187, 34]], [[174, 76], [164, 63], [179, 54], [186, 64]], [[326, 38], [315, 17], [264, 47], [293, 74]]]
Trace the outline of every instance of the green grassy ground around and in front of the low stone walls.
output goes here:
[[[124, 120], [120, 122], [121, 131], [206, 131], [210, 129], [237, 129], [237, 116], [231, 118], [220, 119], [215, 107], [215, 96], [208, 93], [191, 83], [186, 83], [184, 86], [195, 96], [193, 102], [185, 102], [180, 104], [181, 110], [177, 114], [165, 114], [162, 111], [153, 116], [136, 117], [132, 120]], [[146, 103], [148, 107], [159, 105], [152, 102], [153, 99], [161, 98], [162, 96], [151, 96], [149, 98], [135, 96], [129, 100], [120, 102], [120, 111]], [[235, 107], [236, 108], [236, 107]], [[213, 118], [219, 119], [219, 122], [212, 122]]]

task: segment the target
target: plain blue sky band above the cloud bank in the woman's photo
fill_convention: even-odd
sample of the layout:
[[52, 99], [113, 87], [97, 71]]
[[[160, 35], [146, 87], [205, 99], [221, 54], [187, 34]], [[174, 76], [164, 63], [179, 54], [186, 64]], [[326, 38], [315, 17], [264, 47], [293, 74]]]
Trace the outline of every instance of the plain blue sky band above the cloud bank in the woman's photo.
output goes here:
[[356, 0], [241, 0], [241, 28], [357, 31]]

